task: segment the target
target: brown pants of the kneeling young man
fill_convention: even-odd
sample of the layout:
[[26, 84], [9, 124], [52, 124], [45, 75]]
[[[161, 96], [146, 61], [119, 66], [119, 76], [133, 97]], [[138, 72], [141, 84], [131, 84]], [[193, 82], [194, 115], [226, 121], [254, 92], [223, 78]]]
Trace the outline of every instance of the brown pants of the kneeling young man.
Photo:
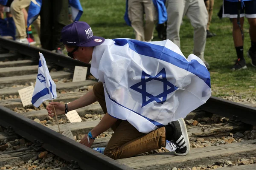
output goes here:
[[[93, 92], [104, 113], [107, 113], [104, 88], [102, 82], [93, 87]], [[105, 148], [104, 155], [112, 159], [122, 159], [166, 146], [165, 127], [148, 134], [139, 132], [126, 120], [117, 120], [113, 125], [113, 136]]]

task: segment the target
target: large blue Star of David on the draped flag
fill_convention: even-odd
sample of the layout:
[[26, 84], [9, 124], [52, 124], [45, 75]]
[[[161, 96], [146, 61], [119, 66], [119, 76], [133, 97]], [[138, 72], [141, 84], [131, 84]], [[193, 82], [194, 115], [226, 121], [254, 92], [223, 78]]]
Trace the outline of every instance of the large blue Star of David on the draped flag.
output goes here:
[[[162, 78], [160, 78], [160, 76], [162, 76]], [[146, 77], [148, 77], [148, 78], [145, 79]], [[163, 93], [161, 93], [157, 96], [154, 96], [154, 95], [149, 94], [148, 92], [146, 92], [146, 82], [149, 82], [151, 80], [158, 80], [160, 82], [163, 82]], [[139, 86], [141, 86], [142, 88], [141, 89], [138, 88]], [[170, 87], [169, 89], [168, 89], [168, 86]], [[130, 88], [142, 94], [142, 106], [141, 106], [141, 108], [143, 108], [145, 105], [147, 105], [148, 103], [151, 103], [153, 101], [156, 101], [157, 103], [163, 104], [164, 102], [166, 102], [167, 95], [172, 93], [173, 91], [177, 90], [177, 87], [166, 79], [165, 68], [163, 68], [154, 77], [150, 76], [150, 75], [146, 74], [144, 71], [142, 71], [141, 82], [138, 82], [137, 84], [132, 85]], [[161, 87], [156, 87], [156, 88], [161, 88]], [[146, 97], [149, 98], [148, 101], [146, 101]], [[162, 97], [163, 97], [163, 100], [161, 101], [160, 98], [162, 98]]]

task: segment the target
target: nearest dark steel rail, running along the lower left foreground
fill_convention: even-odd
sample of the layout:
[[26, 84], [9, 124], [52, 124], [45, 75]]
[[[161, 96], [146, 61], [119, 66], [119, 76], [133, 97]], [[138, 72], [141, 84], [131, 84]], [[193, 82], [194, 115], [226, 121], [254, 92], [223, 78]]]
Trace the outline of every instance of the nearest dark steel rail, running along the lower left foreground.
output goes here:
[[0, 125], [12, 129], [13, 132], [31, 142], [40, 141], [41, 147], [66, 161], [78, 162], [82, 170], [132, 170], [102, 153], [85, 147], [3, 106], [0, 106]]

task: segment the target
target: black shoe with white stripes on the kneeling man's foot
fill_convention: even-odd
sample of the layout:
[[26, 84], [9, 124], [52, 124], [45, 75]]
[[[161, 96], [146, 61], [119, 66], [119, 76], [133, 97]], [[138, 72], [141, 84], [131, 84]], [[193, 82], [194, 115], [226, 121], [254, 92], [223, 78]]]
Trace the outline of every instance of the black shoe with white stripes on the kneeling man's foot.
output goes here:
[[[166, 126], [171, 126], [173, 129], [172, 139], [167, 139], [167, 140], [175, 144], [175, 147], [176, 147], [176, 150], [174, 151], [175, 155], [178, 155], [178, 156], [187, 155], [190, 150], [190, 144], [189, 144], [189, 136], [186, 130], [186, 124], [183, 118], [180, 118], [177, 121], [170, 122]], [[166, 133], [168, 133], [168, 130], [166, 130]]]

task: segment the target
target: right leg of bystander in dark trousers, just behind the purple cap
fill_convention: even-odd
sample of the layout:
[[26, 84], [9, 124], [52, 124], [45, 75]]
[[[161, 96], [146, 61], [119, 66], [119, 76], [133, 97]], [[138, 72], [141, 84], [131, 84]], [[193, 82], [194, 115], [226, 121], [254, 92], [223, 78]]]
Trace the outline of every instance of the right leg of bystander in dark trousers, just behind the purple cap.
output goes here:
[[67, 0], [52, 0], [53, 2], [53, 49], [57, 48], [64, 49], [64, 45], [60, 42], [61, 39], [61, 30], [64, 26], [69, 24], [68, 20], [68, 1]]

